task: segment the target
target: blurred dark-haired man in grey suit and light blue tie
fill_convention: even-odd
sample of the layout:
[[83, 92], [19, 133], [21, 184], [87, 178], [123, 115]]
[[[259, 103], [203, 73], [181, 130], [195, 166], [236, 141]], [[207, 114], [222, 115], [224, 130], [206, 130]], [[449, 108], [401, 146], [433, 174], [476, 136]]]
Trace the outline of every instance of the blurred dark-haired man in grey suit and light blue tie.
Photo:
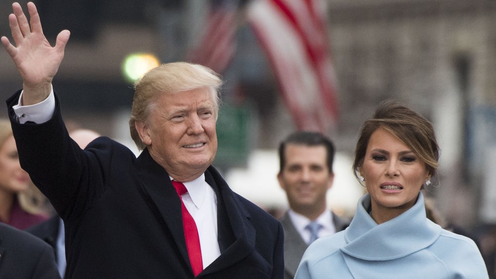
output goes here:
[[284, 228], [284, 277], [294, 278], [303, 253], [318, 237], [345, 229], [349, 222], [327, 208], [334, 179], [334, 144], [320, 133], [296, 132], [279, 145], [279, 185], [289, 210]]

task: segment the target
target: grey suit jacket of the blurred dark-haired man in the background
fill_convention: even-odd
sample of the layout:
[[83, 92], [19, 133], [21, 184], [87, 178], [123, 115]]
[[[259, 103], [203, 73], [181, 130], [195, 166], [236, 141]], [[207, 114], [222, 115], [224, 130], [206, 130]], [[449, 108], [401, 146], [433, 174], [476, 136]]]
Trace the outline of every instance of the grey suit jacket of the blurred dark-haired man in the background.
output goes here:
[[[332, 212], [332, 222], [336, 232], [342, 231], [350, 225], [349, 221], [340, 218], [334, 212]], [[281, 218], [281, 224], [284, 229], [284, 278], [293, 279], [303, 254], [309, 246], [296, 230], [288, 212]]]

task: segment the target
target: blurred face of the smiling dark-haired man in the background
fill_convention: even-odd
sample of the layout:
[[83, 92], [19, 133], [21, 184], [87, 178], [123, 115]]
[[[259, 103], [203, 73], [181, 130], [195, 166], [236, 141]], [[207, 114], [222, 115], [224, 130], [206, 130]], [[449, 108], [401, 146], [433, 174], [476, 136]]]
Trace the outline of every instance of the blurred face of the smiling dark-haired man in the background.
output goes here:
[[277, 179], [291, 209], [299, 213], [325, 209], [325, 195], [334, 178], [327, 168], [325, 146], [290, 143], [284, 152], [286, 164]]

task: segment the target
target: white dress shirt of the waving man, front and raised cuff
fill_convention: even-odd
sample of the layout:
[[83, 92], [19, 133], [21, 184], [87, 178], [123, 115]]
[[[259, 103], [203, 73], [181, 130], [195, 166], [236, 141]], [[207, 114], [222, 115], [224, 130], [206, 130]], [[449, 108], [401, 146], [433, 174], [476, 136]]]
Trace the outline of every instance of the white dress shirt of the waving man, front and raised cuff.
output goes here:
[[[55, 111], [53, 88], [45, 100], [29, 106], [22, 105], [22, 93], [19, 97], [19, 103], [13, 106], [19, 123], [24, 124], [27, 121], [32, 121], [36, 124], [42, 124], [52, 118]], [[205, 269], [220, 256], [217, 240], [217, 196], [212, 187], [206, 183], [204, 174], [191, 182], [185, 182], [184, 185], [188, 192], [183, 195], [183, 202], [198, 228], [201, 258], [203, 269]]]

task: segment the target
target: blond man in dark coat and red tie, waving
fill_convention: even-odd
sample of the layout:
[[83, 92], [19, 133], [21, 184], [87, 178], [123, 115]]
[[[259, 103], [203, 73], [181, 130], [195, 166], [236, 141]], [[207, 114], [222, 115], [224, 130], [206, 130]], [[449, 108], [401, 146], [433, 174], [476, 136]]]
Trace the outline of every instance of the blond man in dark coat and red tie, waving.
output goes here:
[[21, 165], [65, 224], [67, 278], [283, 278], [283, 230], [211, 165], [222, 81], [170, 63], [135, 84], [129, 127], [143, 149], [100, 137], [83, 150], [64, 127], [52, 79], [69, 32], [51, 47], [36, 7], [1, 38], [23, 90], [7, 100]]

